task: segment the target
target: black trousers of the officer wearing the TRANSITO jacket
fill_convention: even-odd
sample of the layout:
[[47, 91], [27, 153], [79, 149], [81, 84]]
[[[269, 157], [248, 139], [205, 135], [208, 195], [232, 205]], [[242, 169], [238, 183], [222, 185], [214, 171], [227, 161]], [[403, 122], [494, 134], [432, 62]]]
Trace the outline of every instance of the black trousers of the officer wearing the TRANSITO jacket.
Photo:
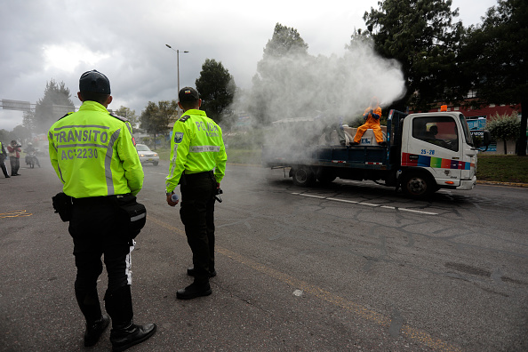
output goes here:
[[101, 316], [97, 279], [102, 273], [101, 257], [107, 268], [105, 302], [112, 324], [132, 321], [131, 252], [134, 241], [124, 231], [123, 215], [113, 196], [74, 198], [69, 233], [76, 259], [76, 299], [87, 323]]

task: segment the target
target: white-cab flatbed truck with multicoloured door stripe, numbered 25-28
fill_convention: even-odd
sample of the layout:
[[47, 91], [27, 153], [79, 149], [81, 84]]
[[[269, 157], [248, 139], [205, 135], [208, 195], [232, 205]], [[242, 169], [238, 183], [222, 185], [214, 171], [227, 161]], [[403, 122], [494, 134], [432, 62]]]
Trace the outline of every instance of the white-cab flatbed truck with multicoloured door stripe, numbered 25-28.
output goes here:
[[[484, 132], [483, 144], [489, 144], [489, 140], [489, 132]], [[272, 169], [289, 168], [293, 182], [302, 187], [338, 177], [373, 180], [396, 190], [402, 188], [406, 196], [415, 198], [429, 196], [440, 188], [475, 188], [480, 146], [460, 112], [407, 115], [390, 110], [385, 141], [384, 146], [372, 138], [362, 139], [356, 146], [264, 145], [262, 164]]]

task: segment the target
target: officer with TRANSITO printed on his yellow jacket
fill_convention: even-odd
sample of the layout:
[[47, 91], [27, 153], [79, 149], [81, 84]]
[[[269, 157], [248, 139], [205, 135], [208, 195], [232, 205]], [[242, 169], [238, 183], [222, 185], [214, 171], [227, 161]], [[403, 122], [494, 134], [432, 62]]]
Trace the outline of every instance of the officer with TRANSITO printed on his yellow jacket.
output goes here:
[[86, 319], [84, 346], [95, 345], [110, 321], [101, 312], [97, 293], [104, 254], [110, 341], [114, 351], [123, 351], [156, 332], [156, 324], [133, 324], [130, 268], [135, 234], [124, 227], [118, 205], [119, 199], [140, 192], [143, 169], [124, 119], [108, 113], [112, 96], [107, 76], [85, 72], [79, 91], [81, 108], [60, 118], [48, 133], [50, 159], [63, 192], [72, 197], [68, 230], [74, 241], [76, 300]]

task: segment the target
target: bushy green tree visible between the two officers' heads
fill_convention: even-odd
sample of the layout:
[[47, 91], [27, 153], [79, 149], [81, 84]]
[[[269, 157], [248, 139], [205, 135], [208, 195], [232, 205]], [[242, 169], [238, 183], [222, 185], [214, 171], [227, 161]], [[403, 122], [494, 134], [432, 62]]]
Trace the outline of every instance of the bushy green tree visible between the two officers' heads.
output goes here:
[[[140, 128], [152, 134], [154, 140], [158, 134], [166, 135], [169, 124], [176, 121], [178, 102], [176, 100], [162, 100], [156, 103], [148, 101], [147, 108], [141, 111]], [[156, 143], [154, 144], [156, 149]]]

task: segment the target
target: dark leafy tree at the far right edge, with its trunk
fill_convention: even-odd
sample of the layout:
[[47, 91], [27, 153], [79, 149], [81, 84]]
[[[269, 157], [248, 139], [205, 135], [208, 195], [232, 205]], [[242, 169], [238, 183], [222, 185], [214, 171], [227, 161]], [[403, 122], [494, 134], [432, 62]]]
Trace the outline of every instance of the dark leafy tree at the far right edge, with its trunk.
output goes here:
[[528, 119], [528, 2], [499, 0], [480, 26], [469, 28], [462, 48], [465, 68], [474, 73], [476, 104], [521, 103], [518, 156], [526, 156]]

